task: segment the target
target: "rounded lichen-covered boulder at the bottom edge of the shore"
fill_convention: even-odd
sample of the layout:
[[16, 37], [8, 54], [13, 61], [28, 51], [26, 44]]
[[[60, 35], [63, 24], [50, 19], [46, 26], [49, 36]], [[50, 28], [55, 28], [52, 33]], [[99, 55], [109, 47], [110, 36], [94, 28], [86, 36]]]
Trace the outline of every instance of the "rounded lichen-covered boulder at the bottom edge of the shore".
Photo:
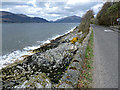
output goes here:
[[14, 88], [51, 88], [52, 84], [45, 73], [40, 73]]

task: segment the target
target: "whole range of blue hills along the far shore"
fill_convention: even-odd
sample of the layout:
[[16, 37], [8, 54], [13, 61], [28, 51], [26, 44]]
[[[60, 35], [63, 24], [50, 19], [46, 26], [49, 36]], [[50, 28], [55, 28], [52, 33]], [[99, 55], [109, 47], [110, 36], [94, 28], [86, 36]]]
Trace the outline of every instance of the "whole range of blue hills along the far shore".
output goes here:
[[81, 17], [73, 15], [57, 19], [56, 21], [48, 21], [40, 17], [29, 17], [24, 14], [0, 11], [0, 20], [3, 23], [80, 23]]

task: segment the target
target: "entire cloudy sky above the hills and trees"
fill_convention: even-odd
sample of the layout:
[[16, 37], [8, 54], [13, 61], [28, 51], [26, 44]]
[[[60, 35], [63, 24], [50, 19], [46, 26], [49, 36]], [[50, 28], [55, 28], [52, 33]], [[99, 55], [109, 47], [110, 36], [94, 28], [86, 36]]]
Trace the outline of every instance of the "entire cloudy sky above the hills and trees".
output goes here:
[[67, 16], [82, 17], [92, 9], [96, 15], [104, 2], [90, 0], [4, 0], [0, 11], [41, 17], [49, 21]]

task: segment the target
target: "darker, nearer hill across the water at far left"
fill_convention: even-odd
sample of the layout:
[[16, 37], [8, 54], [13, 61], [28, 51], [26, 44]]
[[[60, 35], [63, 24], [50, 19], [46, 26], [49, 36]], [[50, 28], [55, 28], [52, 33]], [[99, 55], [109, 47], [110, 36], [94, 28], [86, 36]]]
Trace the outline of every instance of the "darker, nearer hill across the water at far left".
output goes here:
[[26, 22], [37, 22], [37, 23], [46, 23], [46, 19], [39, 17], [29, 17], [24, 14], [14, 14], [11, 12], [0, 11], [0, 20], [3, 23], [26, 23]]

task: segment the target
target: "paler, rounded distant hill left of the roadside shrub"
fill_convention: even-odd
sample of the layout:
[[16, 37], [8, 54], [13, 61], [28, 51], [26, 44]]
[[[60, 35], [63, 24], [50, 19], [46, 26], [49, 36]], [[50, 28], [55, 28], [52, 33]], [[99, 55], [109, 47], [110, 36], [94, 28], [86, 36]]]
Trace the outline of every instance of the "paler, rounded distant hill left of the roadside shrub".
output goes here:
[[80, 22], [81, 22], [81, 17], [78, 16], [69, 16], [54, 21], [54, 23], [80, 23]]

